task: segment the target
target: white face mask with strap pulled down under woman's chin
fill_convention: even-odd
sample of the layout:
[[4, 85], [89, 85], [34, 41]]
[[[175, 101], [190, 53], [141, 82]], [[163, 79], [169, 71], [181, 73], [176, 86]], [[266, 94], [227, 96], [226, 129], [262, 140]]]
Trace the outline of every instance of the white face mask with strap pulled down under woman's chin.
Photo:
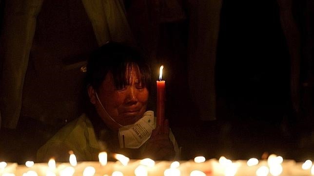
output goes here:
[[95, 94], [107, 116], [120, 126], [118, 129], [118, 138], [121, 148], [139, 148], [151, 137], [153, 129], [156, 128], [154, 111], [146, 111], [143, 117], [136, 123], [123, 126], [108, 114], [104, 106], [102, 106], [96, 91]]

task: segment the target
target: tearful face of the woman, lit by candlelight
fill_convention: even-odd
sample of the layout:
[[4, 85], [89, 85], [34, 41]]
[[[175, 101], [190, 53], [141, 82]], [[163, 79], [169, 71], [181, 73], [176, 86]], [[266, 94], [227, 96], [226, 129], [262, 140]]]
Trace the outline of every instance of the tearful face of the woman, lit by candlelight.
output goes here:
[[[108, 114], [119, 124], [129, 125], [136, 123], [146, 111], [148, 90], [139, 82], [140, 77], [137, 66], [132, 66], [126, 71], [126, 77], [130, 78], [129, 85], [124, 88], [116, 88], [114, 78], [109, 72], [98, 89], [98, 97]], [[92, 102], [93, 103], [93, 102]], [[112, 129], [120, 127], [113, 122], [96, 101], [96, 109], [102, 120]]]

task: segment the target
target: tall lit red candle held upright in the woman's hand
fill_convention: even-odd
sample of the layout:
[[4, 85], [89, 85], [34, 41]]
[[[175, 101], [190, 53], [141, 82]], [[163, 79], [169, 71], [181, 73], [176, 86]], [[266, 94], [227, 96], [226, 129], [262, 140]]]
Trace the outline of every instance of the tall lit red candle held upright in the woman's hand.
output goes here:
[[159, 70], [157, 81], [157, 125], [162, 126], [165, 120], [165, 81], [161, 81], [163, 66]]

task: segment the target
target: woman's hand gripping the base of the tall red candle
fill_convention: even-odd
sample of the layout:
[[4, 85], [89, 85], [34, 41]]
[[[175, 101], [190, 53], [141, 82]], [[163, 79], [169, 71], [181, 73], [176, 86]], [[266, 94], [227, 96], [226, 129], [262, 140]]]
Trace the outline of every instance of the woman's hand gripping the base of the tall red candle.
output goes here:
[[146, 143], [142, 157], [154, 160], [172, 160], [176, 152], [169, 139], [169, 121], [165, 120], [163, 126], [153, 130], [151, 138]]

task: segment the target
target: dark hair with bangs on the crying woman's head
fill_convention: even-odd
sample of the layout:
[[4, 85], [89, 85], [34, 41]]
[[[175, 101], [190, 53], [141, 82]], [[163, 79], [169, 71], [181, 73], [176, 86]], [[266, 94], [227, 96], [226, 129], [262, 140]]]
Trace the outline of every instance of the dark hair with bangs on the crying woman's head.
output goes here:
[[[122, 43], [109, 42], [94, 51], [87, 64], [86, 82], [96, 91], [108, 72], [114, 77], [116, 88], [129, 85], [126, 71], [136, 64], [140, 71], [140, 83], [150, 87], [151, 71], [144, 57], [135, 49]], [[150, 89], [150, 88], [149, 88]]]

